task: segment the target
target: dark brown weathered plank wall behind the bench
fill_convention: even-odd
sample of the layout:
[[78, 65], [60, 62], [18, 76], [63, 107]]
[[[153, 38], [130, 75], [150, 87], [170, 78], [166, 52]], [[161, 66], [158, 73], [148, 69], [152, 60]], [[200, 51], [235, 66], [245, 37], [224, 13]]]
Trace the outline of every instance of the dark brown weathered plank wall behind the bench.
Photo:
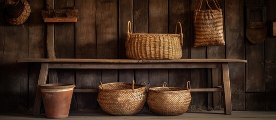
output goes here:
[[[15, 63], [20, 58], [47, 58], [49, 25], [41, 18], [46, 0], [28, 0], [31, 14], [23, 25], [9, 25], [0, 18], [0, 111], [32, 111], [40, 69], [39, 63]], [[49, 0], [51, 1], [51, 0]], [[182, 24], [182, 58], [237, 58], [247, 63], [230, 63], [233, 110], [276, 110], [276, 37], [267, 34], [264, 43], [252, 44], [245, 37], [245, 6], [267, 5], [267, 20], [276, 18], [275, 0], [218, 0], [224, 14], [225, 46], [194, 47], [193, 13], [200, 0], [54, 0], [55, 9], [74, 5], [79, 9], [76, 23], [54, 23], [57, 58], [127, 58], [127, 21], [134, 32], [174, 33]], [[0, 6], [5, 0], [0, 0]], [[209, 0], [212, 2], [212, 0]], [[211, 3], [212, 4], [212, 3]], [[214, 7], [214, 5], [212, 5]], [[202, 8], [206, 8], [206, 4]], [[0, 9], [3, 16], [3, 9]], [[269, 22], [267, 22], [268, 32]], [[179, 30], [179, 29], [178, 29]], [[218, 71], [213, 71], [220, 72]], [[57, 78], [54, 78], [57, 74]], [[57, 80], [58, 79], [58, 80]], [[192, 88], [212, 83], [211, 69], [57, 69], [49, 71], [49, 82], [75, 83], [77, 88], [97, 88], [99, 81], [150, 82], [161, 86]], [[217, 99], [213, 99], [217, 98]], [[220, 109], [221, 93], [193, 92], [190, 110]], [[91, 110], [97, 93], [74, 93], [71, 110]]]

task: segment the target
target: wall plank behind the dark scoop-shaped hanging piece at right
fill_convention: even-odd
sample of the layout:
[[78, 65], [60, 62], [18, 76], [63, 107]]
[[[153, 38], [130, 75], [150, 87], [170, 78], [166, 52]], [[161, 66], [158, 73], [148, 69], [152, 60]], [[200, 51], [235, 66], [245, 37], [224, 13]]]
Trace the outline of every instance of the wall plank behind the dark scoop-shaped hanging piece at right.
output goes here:
[[[260, 1], [262, 3], [259, 3]], [[263, 2], [264, 0], [245, 0], [245, 5], [264, 5]], [[246, 26], [246, 23], [244, 24]], [[264, 92], [264, 43], [252, 44], [245, 37], [245, 58], [246, 92]]]

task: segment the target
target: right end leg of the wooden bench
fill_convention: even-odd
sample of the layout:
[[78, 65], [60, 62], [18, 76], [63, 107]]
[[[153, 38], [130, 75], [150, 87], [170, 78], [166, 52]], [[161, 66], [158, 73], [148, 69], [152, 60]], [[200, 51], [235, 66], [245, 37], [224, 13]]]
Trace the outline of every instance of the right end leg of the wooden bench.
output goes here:
[[224, 113], [232, 113], [232, 102], [231, 102], [231, 88], [229, 78], [228, 63], [222, 63], [222, 84], [223, 84], [223, 100], [224, 100]]

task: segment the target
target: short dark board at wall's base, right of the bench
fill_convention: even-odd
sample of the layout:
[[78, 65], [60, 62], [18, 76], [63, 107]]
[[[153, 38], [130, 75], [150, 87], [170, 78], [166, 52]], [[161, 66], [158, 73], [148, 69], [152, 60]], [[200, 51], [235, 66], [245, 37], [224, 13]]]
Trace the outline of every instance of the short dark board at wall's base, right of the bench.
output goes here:
[[245, 95], [246, 110], [265, 110], [265, 93], [250, 93]]

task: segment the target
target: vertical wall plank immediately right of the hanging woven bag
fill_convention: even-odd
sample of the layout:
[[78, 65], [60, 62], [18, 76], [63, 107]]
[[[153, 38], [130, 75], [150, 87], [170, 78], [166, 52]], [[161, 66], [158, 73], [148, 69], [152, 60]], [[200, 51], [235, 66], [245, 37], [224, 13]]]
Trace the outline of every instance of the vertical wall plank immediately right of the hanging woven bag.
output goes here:
[[[225, 0], [226, 58], [244, 59], [243, 0]], [[244, 63], [229, 63], [233, 110], [245, 110]]]

